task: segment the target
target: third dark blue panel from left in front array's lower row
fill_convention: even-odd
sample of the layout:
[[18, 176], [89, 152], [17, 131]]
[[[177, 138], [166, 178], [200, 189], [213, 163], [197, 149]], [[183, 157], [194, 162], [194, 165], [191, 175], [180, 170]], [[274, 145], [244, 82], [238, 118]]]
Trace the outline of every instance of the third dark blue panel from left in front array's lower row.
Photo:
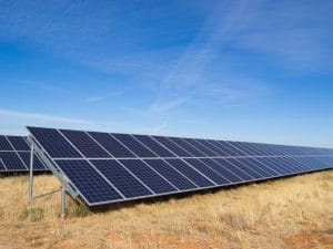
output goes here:
[[147, 164], [140, 159], [121, 159], [120, 163], [130, 169], [138, 178], [140, 178], [155, 194], [164, 194], [176, 191], [172, 185], [158, 175]]

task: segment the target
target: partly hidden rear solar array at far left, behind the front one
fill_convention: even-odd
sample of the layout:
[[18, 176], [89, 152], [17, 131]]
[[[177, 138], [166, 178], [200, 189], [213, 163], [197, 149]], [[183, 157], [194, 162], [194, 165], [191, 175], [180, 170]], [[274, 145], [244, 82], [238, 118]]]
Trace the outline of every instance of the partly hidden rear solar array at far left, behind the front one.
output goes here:
[[[33, 170], [48, 170], [37, 154]], [[28, 172], [30, 167], [30, 146], [23, 136], [0, 136], [0, 173]]]

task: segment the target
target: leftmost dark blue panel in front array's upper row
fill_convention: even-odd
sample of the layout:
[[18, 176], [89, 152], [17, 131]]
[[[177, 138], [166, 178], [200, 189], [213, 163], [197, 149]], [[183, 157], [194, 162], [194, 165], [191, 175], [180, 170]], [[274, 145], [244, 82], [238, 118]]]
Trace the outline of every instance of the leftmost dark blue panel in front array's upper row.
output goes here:
[[79, 158], [81, 155], [65, 138], [54, 128], [28, 127], [36, 139], [43, 145], [43, 148], [53, 158]]

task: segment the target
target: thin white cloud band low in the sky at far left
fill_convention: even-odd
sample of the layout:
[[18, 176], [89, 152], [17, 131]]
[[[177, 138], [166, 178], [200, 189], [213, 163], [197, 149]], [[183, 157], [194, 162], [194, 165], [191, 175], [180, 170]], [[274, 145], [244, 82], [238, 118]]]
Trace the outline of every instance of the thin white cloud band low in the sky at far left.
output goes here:
[[91, 124], [90, 121], [80, 120], [80, 118], [71, 118], [63, 117], [57, 115], [48, 115], [41, 113], [30, 113], [30, 112], [19, 112], [13, 110], [0, 108], [0, 116], [2, 118], [18, 118], [24, 120], [27, 122], [48, 122], [48, 123], [57, 123], [57, 124]]

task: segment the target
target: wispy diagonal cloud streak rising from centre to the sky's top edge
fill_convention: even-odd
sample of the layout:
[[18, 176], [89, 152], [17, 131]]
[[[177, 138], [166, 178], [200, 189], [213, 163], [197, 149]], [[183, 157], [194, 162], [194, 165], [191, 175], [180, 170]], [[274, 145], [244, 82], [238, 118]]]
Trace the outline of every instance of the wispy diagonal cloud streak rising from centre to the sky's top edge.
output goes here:
[[[223, 61], [221, 51], [246, 28], [258, 8], [248, 1], [223, 1], [214, 6], [196, 38], [160, 79], [157, 98], [149, 106], [149, 111], [170, 111], [190, 100], [198, 101], [208, 96], [224, 101], [249, 96], [253, 92], [249, 89], [254, 80], [241, 82], [243, 77], [221, 74], [212, 83], [209, 65], [216, 59]], [[245, 83], [249, 83], [246, 87], [239, 87]], [[255, 85], [253, 84], [254, 87]]]

